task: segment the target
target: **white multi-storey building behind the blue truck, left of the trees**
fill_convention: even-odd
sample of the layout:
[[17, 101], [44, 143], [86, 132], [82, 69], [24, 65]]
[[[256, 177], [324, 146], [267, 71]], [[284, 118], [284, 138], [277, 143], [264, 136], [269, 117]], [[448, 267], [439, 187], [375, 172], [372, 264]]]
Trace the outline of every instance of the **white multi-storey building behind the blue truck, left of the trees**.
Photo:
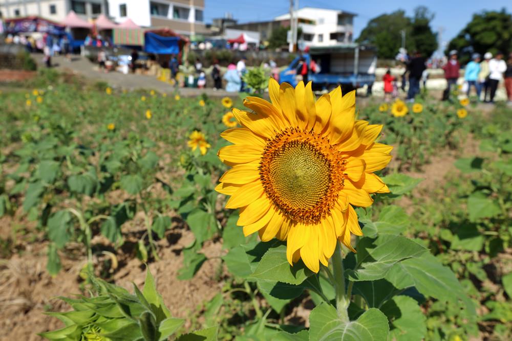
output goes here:
[[[293, 13], [298, 17], [305, 46], [329, 46], [352, 42], [353, 19], [356, 14], [340, 10], [304, 7]], [[274, 21], [289, 21], [290, 13], [274, 18]]]

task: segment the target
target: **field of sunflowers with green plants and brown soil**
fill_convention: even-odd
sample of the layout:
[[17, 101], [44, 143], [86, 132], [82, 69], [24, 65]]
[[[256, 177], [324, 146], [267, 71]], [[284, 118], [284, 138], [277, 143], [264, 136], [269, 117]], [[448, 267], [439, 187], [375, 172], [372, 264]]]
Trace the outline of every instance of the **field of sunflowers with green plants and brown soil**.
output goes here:
[[263, 81], [2, 87], [0, 339], [512, 339], [512, 109]]

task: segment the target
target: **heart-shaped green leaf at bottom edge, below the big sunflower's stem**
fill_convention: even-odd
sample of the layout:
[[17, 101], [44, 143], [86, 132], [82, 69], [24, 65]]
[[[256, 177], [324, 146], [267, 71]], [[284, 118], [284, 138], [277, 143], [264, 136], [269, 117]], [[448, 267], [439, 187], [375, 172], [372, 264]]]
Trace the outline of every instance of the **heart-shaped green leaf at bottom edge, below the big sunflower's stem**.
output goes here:
[[368, 341], [386, 340], [389, 324], [386, 315], [370, 308], [356, 321], [344, 323], [336, 309], [326, 303], [315, 307], [309, 315], [310, 341]]

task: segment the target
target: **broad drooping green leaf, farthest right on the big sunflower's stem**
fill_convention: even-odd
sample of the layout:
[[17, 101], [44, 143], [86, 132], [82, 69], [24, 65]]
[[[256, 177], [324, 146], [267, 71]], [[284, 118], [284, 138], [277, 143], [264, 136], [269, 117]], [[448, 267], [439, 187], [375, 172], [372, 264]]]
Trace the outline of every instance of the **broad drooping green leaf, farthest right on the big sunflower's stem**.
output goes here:
[[429, 253], [393, 265], [386, 279], [398, 289], [414, 286], [427, 297], [455, 304], [461, 300], [467, 314], [476, 315], [473, 302], [465, 295], [452, 270]]

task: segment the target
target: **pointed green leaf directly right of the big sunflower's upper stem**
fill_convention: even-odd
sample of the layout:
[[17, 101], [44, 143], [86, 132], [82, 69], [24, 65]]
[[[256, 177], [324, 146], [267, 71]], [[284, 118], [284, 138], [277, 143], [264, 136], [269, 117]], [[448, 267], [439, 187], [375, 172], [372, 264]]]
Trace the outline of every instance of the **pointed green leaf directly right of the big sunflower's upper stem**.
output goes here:
[[346, 271], [349, 278], [354, 281], [384, 278], [389, 269], [397, 262], [411, 257], [419, 257], [427, 251], [426, 248], [409, 238], [389, 234], [381, 234], [373, 241], [365, 237], [359, 243], [365, 251], [361, 252], [360, 256], [358, 255], [356, 269]]

